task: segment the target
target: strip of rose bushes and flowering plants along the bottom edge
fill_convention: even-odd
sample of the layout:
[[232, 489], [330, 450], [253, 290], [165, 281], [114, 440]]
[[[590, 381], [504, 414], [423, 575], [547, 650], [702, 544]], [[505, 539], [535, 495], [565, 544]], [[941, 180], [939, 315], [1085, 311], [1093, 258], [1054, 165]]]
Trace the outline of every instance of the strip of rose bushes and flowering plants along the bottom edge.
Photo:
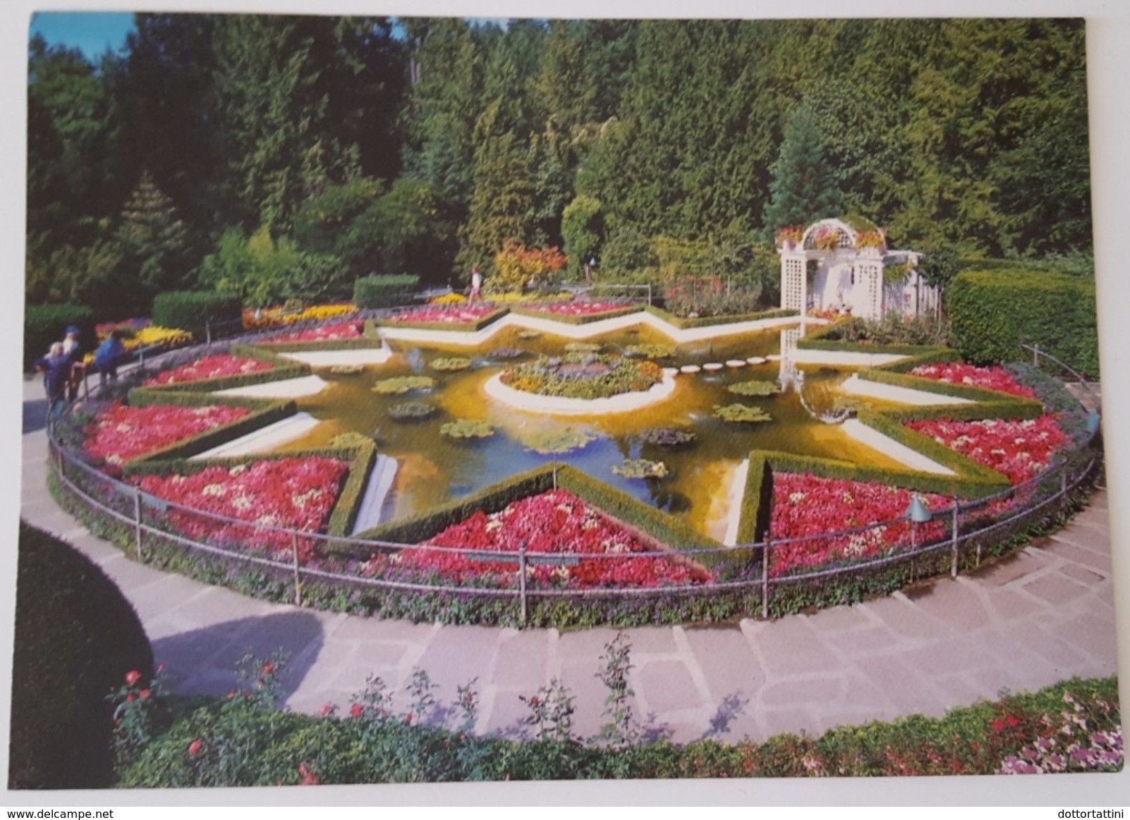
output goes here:
[[[556, 681], [521, 697], [528, 738], [508, 740], [470, 733], [478, 704], [470, 684], [459, 688], [449, 708], [435, 701], [433, 684], [417, 670], [406, 689], [406, 710], [394, 712], [384, 684], [370, 679], [344, 714], [327, 705], [321, 716], [299, 715], [273, 707], [279, 660], [245, 657], [249, 686], [243, 691], [165, 709], [138, 707], [144, 721], [133, 725], [147, 722], [155, 738], [123, 756], [119, 785], [955, 775], [1003, 768], [1114, 771], [1122, 766], [1114, 678], [1074, 679], [951, 709], [941, 718], [841, 726], [819, 738], [643, 743], [626, 684], [629, 648], [618, 637], [600, 658], [607, 723], [599, 739], [588, 741], [574, 735], [573, 697]], [[449, 725], [436, 725], [437, 715], [445, 715]]]

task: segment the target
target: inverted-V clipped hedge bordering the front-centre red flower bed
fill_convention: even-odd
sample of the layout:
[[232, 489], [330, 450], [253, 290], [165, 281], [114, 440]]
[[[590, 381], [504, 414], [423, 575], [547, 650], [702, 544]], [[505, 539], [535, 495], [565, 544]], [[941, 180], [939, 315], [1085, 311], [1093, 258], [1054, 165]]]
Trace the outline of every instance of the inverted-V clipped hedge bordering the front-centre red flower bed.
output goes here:
[[[358, 533], [357, 538], [403, 544], [426, 541], [437, 532], [452, 524], [458, 524], [478, 511], [488, 515], [497, 513], [513, 501], [553, 489], [555, 470], [557, 487], [570, 490], [586, 504], [591, 504], [629, 529], [638, 530], [643, 535], [660, 544], [675, 550], [720, 546], [713, 539], [701, 534], [697, 530], [667, 513], [650, 507], [627, 492], [560, 462], [550, 462], [533, 470], [511, 476], [508, 479], [441, 505], [427, 513], [380, 524]], [[349, 549], [348, 546], [342, 546], [342, 551], [348, 551], [355, 557], [368, 558], [371, 553], [371, 550], [364, 550], [364, 556], [362, 556], [355, 549]]]

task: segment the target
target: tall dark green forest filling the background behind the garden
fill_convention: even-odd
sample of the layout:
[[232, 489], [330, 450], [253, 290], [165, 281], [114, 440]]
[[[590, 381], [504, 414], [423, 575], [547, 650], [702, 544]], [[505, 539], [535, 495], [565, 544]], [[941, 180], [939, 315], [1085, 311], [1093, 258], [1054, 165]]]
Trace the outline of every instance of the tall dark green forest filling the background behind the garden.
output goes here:
[[771, 279], [773, 230], [1090, 252], [1083, 20], [137, 15], [28, 58], [29, 304], [459, 283], [507, 242], [579, 272]]

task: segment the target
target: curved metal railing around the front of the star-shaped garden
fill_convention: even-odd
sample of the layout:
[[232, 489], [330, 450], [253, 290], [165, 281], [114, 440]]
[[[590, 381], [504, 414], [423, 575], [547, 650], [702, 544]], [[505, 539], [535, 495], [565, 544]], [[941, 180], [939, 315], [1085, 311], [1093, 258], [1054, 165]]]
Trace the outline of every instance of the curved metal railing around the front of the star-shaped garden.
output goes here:
[[[254, 337], [277, 331], [273, 328]], [[199, 352], [198, 347], [171, 356], [188, 359]], [[70, 411], [86, 404], [96, 410], [101, 391], [90, 392], [92, 398]], [[951, 499], [948, 506], [933, 511], [925, 523], [901, 517], [803, 538], [678, 551], [563, 556], [528, 550], [523, 544], [518, 551], [488, 553], [481, 549], [327, 535], [207, 513], [146, 492], [86, 463], [62, 445], [58, 424], [50, 425], [47, 431], [50, 463], [60, 488], [87, 513], [119, 525], [116, 540], [139, 561], [145, 562], [157, 550], [174, 549], [227, 567], [254, 568], [288, 586], [296, 604], [303, 602], [303, 587], [310, 583], [370, 594], [510, 599], [518, 605], [519, 622], [523, 625], [530, 603], [537, 600], [733, 594], [749, 605], [756, 601], [762, 617], [767, 618], [775, 610], [788, 611], [788, 599], [801, 585], [828, 586], [885, 572], [898, 573], [902, 585], [944, 574], [946, 568], [956, 576], [963, 567], [980, 566], [986, 553], [998, 555], [1009, 533], [1023, 533], [1055, 515], [1101, 466], [1101, 453], [1095, 446], [1097, 425], [1093, 425], [1086, 440], [1077, 443], [1043, 473], [992, 496]], [[438, 565], [460, 560], [478, 565], [480, 570], [457, 574], [454, 581], [437, 581]], [[692, 579], [681, 585], [581, 588], [563, 585], [573, 567], [584, 568], [590, 576], [606, 577], [602, 567], [611, 561], [621, 569], [650, 572], [651, 581], [657, 581], [660, 569], [681, 568], [697, 575], [697, 583]], [[493, 570], [481, 572], [487, 565]]]

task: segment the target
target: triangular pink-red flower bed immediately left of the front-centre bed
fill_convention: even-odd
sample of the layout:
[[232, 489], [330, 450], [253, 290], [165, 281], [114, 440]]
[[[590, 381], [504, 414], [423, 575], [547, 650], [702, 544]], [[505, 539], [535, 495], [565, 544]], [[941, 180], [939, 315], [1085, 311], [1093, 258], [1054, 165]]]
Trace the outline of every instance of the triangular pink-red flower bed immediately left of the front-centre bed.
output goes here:
[[[321, 532], [333, 511], [349, 462], [323, 456], [264, 459], [250, 465], [209, 466], [189, 476], [144, 476], [134, 479], [142, 490], [192, 511], [240, 518], [253, 524], [304, 532]], [[288, 533], [263, 532], [254, 526], [219, 522], [197, 512], [169, 509], [173, 526], [193, 539], [285, 552]], [[298, 560], [313, 557], [308, 539], [298, 541]]]

